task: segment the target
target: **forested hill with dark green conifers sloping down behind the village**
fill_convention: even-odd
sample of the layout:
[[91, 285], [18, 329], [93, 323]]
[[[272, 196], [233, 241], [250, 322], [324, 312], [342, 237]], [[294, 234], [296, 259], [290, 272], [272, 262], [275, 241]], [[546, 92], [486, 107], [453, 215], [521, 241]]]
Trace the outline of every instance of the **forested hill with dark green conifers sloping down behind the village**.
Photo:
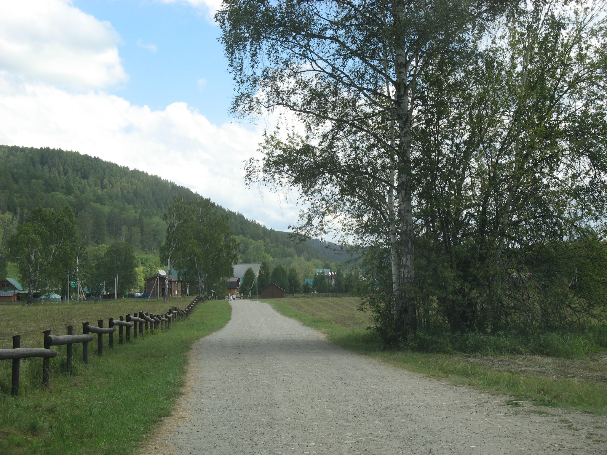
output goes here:
[[[18, 222], [33, 208], [59, 210], [69, 204], [90, 246], [126, 240], [154, 252], [164, 238], [162, 215], [177, 195], [199, 197], [186, 187], [100, 158], [59, 149], [0, 146], [0, 212]], [[226, 211], [242, 248], [241, 260], [339, 260], [317, 241], [296, 244], [243, 215]]]

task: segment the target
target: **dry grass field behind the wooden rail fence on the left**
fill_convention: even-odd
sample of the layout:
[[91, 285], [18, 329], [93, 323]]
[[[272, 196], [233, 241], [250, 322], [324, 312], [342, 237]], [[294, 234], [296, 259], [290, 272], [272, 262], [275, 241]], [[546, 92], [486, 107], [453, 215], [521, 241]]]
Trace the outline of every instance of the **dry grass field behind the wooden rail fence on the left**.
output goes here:
[[184, 308], [194, 297], [147, 300], [124, 298], [111, 302], [95, 303], [44, 303], [30, 306], [0, 305], [0, 348], [12, 347], [13, 335], [21, 335], [23, 348], [41, 348], [42, 332], [52, 329], [53, 334], [63, 335], [67, 326], [80, 328], [84, 321], [96, 323], [98, 319], [118, 318], [127, 313], [147, 311], [154, 314], [166, 312], [170, 306]]

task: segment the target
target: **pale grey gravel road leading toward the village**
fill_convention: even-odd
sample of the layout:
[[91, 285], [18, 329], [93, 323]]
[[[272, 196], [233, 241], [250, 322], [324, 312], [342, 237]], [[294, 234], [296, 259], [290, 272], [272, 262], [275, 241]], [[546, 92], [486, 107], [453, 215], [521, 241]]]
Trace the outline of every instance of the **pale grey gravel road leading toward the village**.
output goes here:
[[606, 417], [513, 408], [351, 354], [266, 303], [232, 308], [195, 343], [186, 394], [142, 454], [607, 453]]

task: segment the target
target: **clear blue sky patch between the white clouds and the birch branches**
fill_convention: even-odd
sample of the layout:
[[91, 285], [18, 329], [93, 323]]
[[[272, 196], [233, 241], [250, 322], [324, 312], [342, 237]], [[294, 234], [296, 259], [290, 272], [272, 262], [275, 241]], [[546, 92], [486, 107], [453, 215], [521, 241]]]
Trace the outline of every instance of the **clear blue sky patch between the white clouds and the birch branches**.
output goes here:
[[212, 123], [231, 120], [232, 78], [217, 42], [220, 29], [208, 9], [145, 0], [77, 0], [73, 5], [110, 22], [120, 35], [118, 50], [129, 81], [113, 93], [152, 109], [185, 101]]

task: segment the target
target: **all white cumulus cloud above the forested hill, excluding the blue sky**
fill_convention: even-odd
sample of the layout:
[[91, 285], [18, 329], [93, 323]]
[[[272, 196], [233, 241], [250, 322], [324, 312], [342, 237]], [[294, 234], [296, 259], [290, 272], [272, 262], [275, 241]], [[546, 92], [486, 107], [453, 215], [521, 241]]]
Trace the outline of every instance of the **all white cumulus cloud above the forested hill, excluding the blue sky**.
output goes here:
[[[126, 80], [107, 22], [69, 1], [0, 0], [0, 144], [56, 147], [175, 181], [266, 226], [296, 207], [243, 182], [259, 129], [215, 125], [186, 103], [135, 106], [103, 89]], [[201, 79], [198, 86], [204, 86]]]

